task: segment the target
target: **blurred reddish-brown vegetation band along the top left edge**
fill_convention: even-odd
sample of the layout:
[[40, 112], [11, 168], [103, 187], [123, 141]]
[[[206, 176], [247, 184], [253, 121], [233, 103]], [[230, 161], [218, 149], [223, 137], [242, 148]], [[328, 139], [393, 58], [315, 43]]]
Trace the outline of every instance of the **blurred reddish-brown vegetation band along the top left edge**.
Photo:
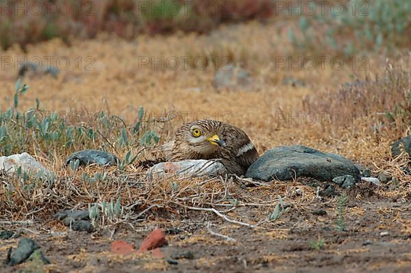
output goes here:
[[138, 34], [169, 34], [175, 31], [205, 33], [230, 21], [272, 16], [271, 0], [125, 0], [4, 1], [0, 5], [0, 47], [52, 38], [95, 38], [109, 31], [125, 39]]

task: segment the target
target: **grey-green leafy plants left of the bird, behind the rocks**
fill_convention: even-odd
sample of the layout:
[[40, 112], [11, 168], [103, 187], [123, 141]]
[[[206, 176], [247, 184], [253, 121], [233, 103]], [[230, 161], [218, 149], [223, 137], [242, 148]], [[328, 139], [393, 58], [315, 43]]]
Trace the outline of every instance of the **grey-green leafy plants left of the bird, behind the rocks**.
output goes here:
[[[132, 164], [136, 156], [131, 156], [135, 146], [151, 146], [160, 138], [150, 129], [151, 122], [144, 120], [144, 109], [138, 111], [136, 125], [127, 125], [119, 116], [110, 116], [104, 111], [86, 117], [77, 113], [58, 113], [40, 109], [40, 101], [36, 107], [26, 112], [18, 109], [18, 101], [29, 90], [19, 79], [13, 98], [13, 107], [0, 112], [0, 154], [41, 153], [53, 160], [54, 155], [84, 148], [102, 150], [128, 151], [121, 161], [124, 168]], [[86, 118], [87, 120], [84, 120]], [[73, 170], [78, 166], [71, 166]]]

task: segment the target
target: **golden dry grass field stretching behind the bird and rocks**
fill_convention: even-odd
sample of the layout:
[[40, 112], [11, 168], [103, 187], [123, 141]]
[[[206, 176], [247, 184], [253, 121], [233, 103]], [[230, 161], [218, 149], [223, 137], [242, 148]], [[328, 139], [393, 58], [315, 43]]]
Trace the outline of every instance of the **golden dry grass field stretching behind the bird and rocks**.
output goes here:
[[[69, 111], [80, 116], [84, 115], [85, 111], [95, 113], [105, 109], [108, 114], [123, 116], [131, 123], [136, 121], [138, 107], [143, 105], [147, 110], [147, 117], [161, 118], [171, 112], [179, 114], [168, 122], [166, 127], [161, 125], [155, 129], [160, 133], [160, 143], [168, 140], [173, 130], [187, 120], [216, 118], [245, 129], [260, 153], [273, 146], [305, 144], [329, 152], [338, 152], [362, 164], [374, 163], [377, 168], [383, 168], [380, 166], [391, 160], [388, 144], [405, 135], [408, 128], [407, 120], [396, 120], [395, 126], [391, 127], [388, 123], [382, 123], [379, 118], [383, 110], [392, 111], [395, 103], [401, 103], [409, 90], [410, 70], [406, 61], [408, 57], [405, 56], [399, 64], [395, 63], [395, 68], [390, 64], [385, 74], [386, 64], [378, 57], [371, 59], [371, 70], [366, 73], [351, 70], [348, 66], [343, 70], [332, 70], [327, 65], [323, 70], [288, 70], [286, 67], [275, 70], [272, 57], [285, 55], [288, 51], [288, 44], [284, 42], [285, 32], [281, 22], [273, 21], [269, 25], [252, 22], [224, 26], [210, 36], [139, 36], [132, 42], [125, 42], [101, 35], [96, 40], [77, 40], [73, 47], [66, 47], [60, 40], [52, 40], [29, 47], [27, 56], [66, 56], [72, 60], [71, 66], [63, 71], [58, 79], [48, 76], [26, 77], [24, 82], [31, 88], [21, 97], [19, 107], [27, 109], [34, 105], [34, 100], [38, 98], [43, 109]], [[221, 38], [216, 39], [216, 36]], [[273, 44], [277, 46], [273, 47]], [[260, 84], [260, 91], [217, 92], [211, 84], [215, 73], [212, 66], [203, 70], [190, 67], [184, 69], [183, 65], [177, 70], [162, 69], [151, 64], [139, 67], [139, 57], [154, 60], [161, 60], [162, 57], [179, 58], [187, 56], [187, 52], [197, 51], [200, 47], [207, 52], [221, 52], [222, 56], [230, 51], [233, 60], [242, 63], [251, 71], [251, 75]], [[21, 58], [23, 53], [18, 49], [10, 49], [3, 55]], [[84, 67], [79, 70], [75, 67], [74, 60], [77, 57], [85, 60], [88, 56], [95, 60], [92, 64], [94, 70], [84, 70]], [[241, 60], [247, 60], [247, 63]], [[365, 88], [340, 88], [340, 84], [350, 81], [353, 73], [360, 79], [363, 79], [361, 75], [364, 74], [368, 77], [379, 75], [379, 79], [366, 80]], [[290, 76], [306, 81], [306, 87], [282, 85], [282, 79]], [[1, 87], [2, 94], [11, 98], [16, 70], [7, 66], [1, 77], [4, 83]], [[193, 88], [200, 88], [201, 91], [193, 91]], [[308, 103], [307, 96], [311, 98]], [[353, 100], [356, 102], [352, 103]], [[6, 105], [7, 103], [3, 103], [2, 109], [5, 109]], [[354, 122], [343, 125], [332, 125], [329, 122], [320, 125], [308, 124], [304, 119], [306, 110], [333, 114], [329, 109], [342, 112], [345, 116], [349, 116], [353, 111], [365, 113], [366, 119], [351, 120]], [[374, 123], [370, 123], [370, 120]], [[376, 137], [372, 129], [375, 125], [379, 125], [379, 128], [384, 125], [386, 133], [379, 133]], [[81, 148], [98, 148], [101, 144], [97, 142], [97, 145], [93, 145], [83, 147], [75, 144], [74, 149], [65, 149], [60, 151], [60, 154], [49, 153], [48, 156], [36, 147], [27, 148], [38, 155], [38, 160], [54, 170], [58, 177], [66, 177], [66, 170], [62, 166], [64, 157]], [[108, 146], [106, 148], [120, 157], [127, 153], [125, 149], [115, 151]], [[138, 147], [132, 148], [134, 154], [138, 153], [138, 150]], [[66, 183], [61, 184], [60, 187], [69, 187]], [[81, 187], [92, 190], [90, 185]], [[71, 190], [58, 190], [67, 191]], [[169, 191], [164, 191], [162, 198], [169, 194]], [[84, 200], [73, 198], [66, 204], [73, 205], [76, 201], [88, 203], [96, 198], [108, 197], [109, 194], [90, 194]], [[55, 202], [61, 201], [56, 199]], [[34, 204], [27, 207], [25, 212], [38, 207]], [[16, 204], [15, 209], [18, 207], [21, 207], [21, 203]]]

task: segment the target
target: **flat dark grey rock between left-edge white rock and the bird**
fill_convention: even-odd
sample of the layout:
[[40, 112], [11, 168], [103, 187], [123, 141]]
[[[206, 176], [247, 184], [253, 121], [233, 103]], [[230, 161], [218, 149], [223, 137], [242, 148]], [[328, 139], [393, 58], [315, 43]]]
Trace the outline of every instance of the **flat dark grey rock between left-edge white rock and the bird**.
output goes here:
[[112, 153], [97, 150], [83, 150], [69, 155], [66, 158], [66, 165], [69, 165], [70, 161], [74, 161], [76, 159], [80, 161], [80, 165], [82, 166], [90, 164], [97, 164], [99, 166], [112, 166], [115, 165], [119, 160]]

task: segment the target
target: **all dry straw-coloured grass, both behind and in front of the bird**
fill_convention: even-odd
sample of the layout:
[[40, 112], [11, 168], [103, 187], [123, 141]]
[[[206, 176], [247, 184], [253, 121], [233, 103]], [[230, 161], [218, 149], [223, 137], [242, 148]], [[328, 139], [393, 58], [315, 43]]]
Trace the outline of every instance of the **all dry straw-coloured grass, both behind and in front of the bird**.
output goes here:
[[[284, 66], [276, 69], [275, 56], [286, 56], [290, 51], [286, 32], [284, 22], [273, 20], [267, 24], [249, 22], [223, 25], [209, 36], [142, 35], [127, 42], [101, 34], [95, 40], [74, 40], [71, 47], [60, 40], [29, 46], [28, 57], [66, 56], [71, 60], [71, 66], [62, 71], [57, 79], [44, 75], [25, 77], [23, 82], [29, 84], [30, 90], [21, 96], [19, 109], [33, 107], [38, 98], [42, 109], [67, 111], [80, 116], [86, 110], [96, 113], [104, 109], [110, 115], [124, 117], [130, 126], [136, 122], [140, 105], [147, 110], [147, 119], [163, 120], [177, 112], [177, 118], [155, 122], [150, 127], [159, 133], [160, 144], [168, 141], [173, 131], [188, 120], [225, 120], [242, 127], [256, 144], [259, 153], [279, 145], [304, 144], [345, 155], [373, 168], [375, 174], [388, 170], [399, 179], [399, 185], [390, 190], [379, 189], [379, 196], [407, 202], [411, 189], [402, 167], [408, 164], [408, 158], [401, 155], [393, 159], [390, 143], [408, 133], [409, 116], [395, 116], [393, 122], [380, 114], [393, 112], [393, 107], [399, 103], [408, 109], [409, 105], [403, 103], [410, 91], [409, 56], [401, 53], [403, 61], [392, 60], [390, 66], [386, 65], [385, 58], [370, 56], [368, 71], [352, 70], [348, 65], [343, 70], [333, 70], [328, 65], [316, 70], [288, 69]], [[1, 52], [1, 55], [21, 58], [24, 53], [14, 47]], [[212, 66], [203, 70], [191, 66], [184, 69], [182, 65], [177, 70], [149, 64], [139, 67], [139, 57], [161, 60], [161, 57], [197, 55], [209, 58], [229, 55], [233, 62], [250, 71], [259, 90], [247, 92], [241, 87], [235, 91], [216, 90], [212, 86], [215, 73]], [[79, 70], [75, 66], [79, 56], [82, 60], [91, 56], [95, 60], [92, 64], [95, 70], [85, 70], [84, 64]], [[12, 98], [16, 74], [15, 68], [7, 66], [0, 75], [3, 98]], [[364, 81], [365, 88], [341, 87], [343, 83], [352, 82], [353, 75], [355, 79]], [[301, 79], [306, 86], [284, 85], [282, 82], [286, 77]], [[386, 81], [386, 77], [390, 77], [390, 81]], [[307, 99], [308, 96], [310, 99]], [[352, 103], [353, 100], [356, 100], [356, 104]], [[6, 109], [10, 104], [2, 101], [0, 109]], [[358, 111], [365, 116], [342, 125], [330, 122], [311, 124], [302, 118], [308, 110], [327, 110], [331, 114], [342, 112], [346, 115]], [[297, 115], [299, 118], [292, 118]], [[95, 119], [85, 119], [84, 124], [88, 126], [91, 121], [91, 127], [94, 126], [92, 122]], [[116, 200], [119, 197], [122, 197], [125, 214], [118, 221], [108, 223], [109, 229], [127, 224], [127, 228], [129, 226], [133, 231], [141, 231], [147, 229], [147, 223], [150, 223], [149, 226], [170, 226], [172, 221], [187, 217], [198, 218], [202, 222], [200, 216], [207, 213], [226, 224], [257, 226], [256, 230], [266, 236], [275, 235], [276, 238], [284, 239], [290, 229], [310, 231], [313, 226], [325, 226], [334, 221], [334, 210], [331, 216], [319, 218], [318, 221], [300, 218], [291, 224], [282, 218], [268, 221], [279, 202], [279, 195], [290, 206], [292, 215], [302, 215], [323, 205], [336, 204], [336, 198], [319, 198], [317, 189], [305, 185], [304, 179], [274, 181], [269, 185], [225, 177], [150, 182], [145, 177], [145, 170], [128, 166], [124, 171], [115, 167], [107, 168], [104, 171], [108, 172], [108, 179], [92, 184], [82, 179], [82, 173], [94, 174], [101, 172], [100, 168], [90, 166], [77, 172], [65, 168], [64, 158], [82, 148], [105, 147], [120, 158], [128, 151], [137, 154], [141, 149], [137, 144], [117, 146], [117, 128], [121, 126], [115, 127], [109, 138], [115, 148], [99, 137], [95, 142], [78, 142], [72, 148], [58, 147], [48, 153], [41, 151], [40, 146], [28, 146], [27, 151], [55, 172], [56, 180], [53, 184], [37, 181], [28, 186], [16, 177], [2, 176], [3, 185], [8, 185], [3, 186], [0, 192], [1, 218], [8, 221], [3, 226], [18, 226], [17, 222], [10, 221], [50, 220], [51, 213], [59, 209], [86, 208], [88, 203], [109, 201], [110, 198]], [[147, 153], [150, 153], [150, 149]], [[285, 216], [288, 217], [289, 213], [285, 213]], [[358, 211], [347, 214], [347, 219], [351, 221], [356, 218]], [[54, 226], [53, 229], [62, 229], [60, 224], [50, 221], [47, 224]], [[29, 229], [36, 230], [36, 227], [29, 226]], [[275, 231], [281, 232], [274, 234]], [[404, 229], [404, 232], [408, 231]], [[232, 236], [221, 230], [219, 233]], [[267, 256], [264, 259], [275, 258]]]

